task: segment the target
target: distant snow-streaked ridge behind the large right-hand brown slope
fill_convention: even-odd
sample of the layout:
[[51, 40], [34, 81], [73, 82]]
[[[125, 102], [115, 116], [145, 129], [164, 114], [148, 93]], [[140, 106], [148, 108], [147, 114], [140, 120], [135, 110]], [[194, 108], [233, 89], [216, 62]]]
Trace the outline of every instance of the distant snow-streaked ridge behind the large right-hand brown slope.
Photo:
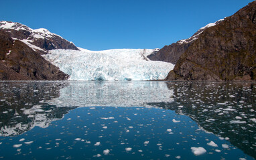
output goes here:
[[215, 23], [209, 23], [208, 25], [196, 31], [196, 33], [194, 33], [192, 37], [177, 41], [176, 43], [172, 43], [172, 45], [166, 45], [156, 53], [148, 55], [147, 58], [149, 58], [151, 61], [166, 61], [172, 64], [176, 64], [178, 59], [180, 58], [180, 55], [182, 55], [188, 49], [188, 47], [190, 47], [190, 45], [194, 43], [196, 39], [198, 39], [200, 34], [203, 33], [205, 29], [207, 29], [208, 27], [212, 27], [220, 23], [221, 21], [223, 21], [223, 19], [220, 19]]

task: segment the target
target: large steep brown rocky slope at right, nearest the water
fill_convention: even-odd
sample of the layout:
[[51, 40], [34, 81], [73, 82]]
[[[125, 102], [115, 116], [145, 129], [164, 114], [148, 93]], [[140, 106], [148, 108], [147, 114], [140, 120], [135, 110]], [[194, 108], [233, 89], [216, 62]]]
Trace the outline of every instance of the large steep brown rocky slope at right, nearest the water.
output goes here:
[[204, 30], [166, 80], [256, 79], [256, 1]]

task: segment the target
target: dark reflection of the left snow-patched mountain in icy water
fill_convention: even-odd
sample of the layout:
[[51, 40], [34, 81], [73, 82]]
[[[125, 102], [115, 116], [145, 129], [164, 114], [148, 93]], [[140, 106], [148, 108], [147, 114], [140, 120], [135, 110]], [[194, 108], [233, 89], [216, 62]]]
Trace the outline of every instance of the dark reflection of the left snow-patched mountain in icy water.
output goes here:
[[35, 126], [48, 127], [75, 107], [56, 107], [44, 101], [59, 97], [62, 82], [0, 83], [1, 136], [20, 135]]

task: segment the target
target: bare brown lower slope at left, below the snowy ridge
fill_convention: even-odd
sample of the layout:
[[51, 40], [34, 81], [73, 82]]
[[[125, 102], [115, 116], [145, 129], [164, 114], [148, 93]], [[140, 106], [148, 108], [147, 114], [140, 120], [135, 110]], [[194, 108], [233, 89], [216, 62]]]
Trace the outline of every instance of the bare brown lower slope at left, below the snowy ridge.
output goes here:
[[0, 29], [0, 79], [1, 80], [63, 80], [68, 75], [38, 51]]

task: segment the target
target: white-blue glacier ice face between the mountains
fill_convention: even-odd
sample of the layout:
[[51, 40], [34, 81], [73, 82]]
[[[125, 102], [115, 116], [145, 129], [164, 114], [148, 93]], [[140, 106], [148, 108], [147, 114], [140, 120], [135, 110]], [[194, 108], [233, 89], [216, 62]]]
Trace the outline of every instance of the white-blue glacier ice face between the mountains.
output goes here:
[[69, 80], [156, 80], [174, 69], [172, 63], [147, 59], [154, 49], [80, 50], [51, 50], [44, 58], [70, 75]]

